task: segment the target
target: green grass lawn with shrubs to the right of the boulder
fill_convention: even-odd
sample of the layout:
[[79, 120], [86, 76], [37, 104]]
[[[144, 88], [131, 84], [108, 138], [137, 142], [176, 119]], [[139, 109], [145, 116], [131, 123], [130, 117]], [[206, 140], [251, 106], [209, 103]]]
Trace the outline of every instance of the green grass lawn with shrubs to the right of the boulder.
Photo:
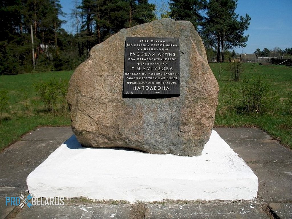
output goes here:
[[[256, 126], [292, 149], [292, 68], [244, 63], [240, 80], [234, 82], [230, 80], [229, 63], [222, 63], [221, 70], [220, 63], [209, 65], [220, 89], [215, 126]], [[268, 87], [265, 112], [243, 112], [244, 83], [257, 79]]]

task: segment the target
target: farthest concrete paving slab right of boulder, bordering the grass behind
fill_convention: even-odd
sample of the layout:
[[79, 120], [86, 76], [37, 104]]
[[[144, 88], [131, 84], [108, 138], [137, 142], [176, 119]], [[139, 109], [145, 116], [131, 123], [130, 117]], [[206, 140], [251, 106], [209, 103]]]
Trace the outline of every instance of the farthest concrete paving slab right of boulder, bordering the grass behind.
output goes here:
[[229, 140], [272, 140], [273, 138], [266, 132], [258, 128], [213, 128], [227, 143]]

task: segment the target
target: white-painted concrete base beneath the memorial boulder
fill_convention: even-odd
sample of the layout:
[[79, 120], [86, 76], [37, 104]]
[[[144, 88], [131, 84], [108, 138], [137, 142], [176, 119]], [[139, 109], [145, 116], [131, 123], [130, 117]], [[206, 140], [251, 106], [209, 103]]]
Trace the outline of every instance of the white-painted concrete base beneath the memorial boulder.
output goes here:
[[258, 178], [215, 132], [198, 157], [82, 148], [72, 136], [27, 177], [36, 197], [254, 199]]

